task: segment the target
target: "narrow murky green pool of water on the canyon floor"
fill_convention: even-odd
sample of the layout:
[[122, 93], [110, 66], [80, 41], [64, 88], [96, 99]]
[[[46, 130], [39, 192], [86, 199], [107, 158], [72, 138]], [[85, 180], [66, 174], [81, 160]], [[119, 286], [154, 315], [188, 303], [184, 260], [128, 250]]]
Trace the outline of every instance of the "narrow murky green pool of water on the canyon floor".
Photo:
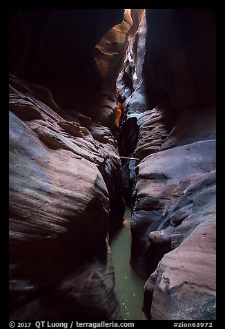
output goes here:
[[117, 297], [122, 316], [126, 320], [139, 320], [143, 303], [145, 281], [130, 267], [130, 208], [126, 208], [123, 227], [110, 239], [110, 249], [115, 268]]

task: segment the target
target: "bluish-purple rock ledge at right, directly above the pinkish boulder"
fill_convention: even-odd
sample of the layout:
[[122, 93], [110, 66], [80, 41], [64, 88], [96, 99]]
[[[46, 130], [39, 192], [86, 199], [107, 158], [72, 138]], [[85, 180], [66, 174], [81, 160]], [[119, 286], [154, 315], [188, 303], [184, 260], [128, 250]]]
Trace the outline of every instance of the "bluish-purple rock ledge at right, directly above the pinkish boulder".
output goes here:
[[[131, 223], [131, 262], [139, 274], [142, 268], [143, 272], [146, 269], [150, 275], [162, 256], [175, 247], [170, 240], [174, 227], [181, 225], [183, 220], [187, 221], [186, 218], [192, 213], [197, 212], [199, 218], [199, 209], [193, 209], [195, 189], [206, 189], [212, 184], [211, 176], [206, 173], [212, 171], [215, 178], [213, 170], [215, 140], [160, 151], [141, 161]], [[210, 196], [213, 198], [214, 194]], [[209, 197], [206, 198], [206, 205], [208, 200]], [[208, 214], [207, 207], [205, 210]], [[195, 227], [193, 222], [191, 225]]]

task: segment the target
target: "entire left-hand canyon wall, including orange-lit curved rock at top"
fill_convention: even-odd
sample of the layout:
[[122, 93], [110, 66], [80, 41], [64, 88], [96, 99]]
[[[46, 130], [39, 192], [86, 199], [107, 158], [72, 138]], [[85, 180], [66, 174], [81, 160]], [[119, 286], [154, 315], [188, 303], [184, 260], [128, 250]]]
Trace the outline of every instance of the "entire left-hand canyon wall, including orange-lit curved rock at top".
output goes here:
[[124, 218], [112, 87], [123, 17], [10, 12], [10, 319], [121, 319], [108, 232]]

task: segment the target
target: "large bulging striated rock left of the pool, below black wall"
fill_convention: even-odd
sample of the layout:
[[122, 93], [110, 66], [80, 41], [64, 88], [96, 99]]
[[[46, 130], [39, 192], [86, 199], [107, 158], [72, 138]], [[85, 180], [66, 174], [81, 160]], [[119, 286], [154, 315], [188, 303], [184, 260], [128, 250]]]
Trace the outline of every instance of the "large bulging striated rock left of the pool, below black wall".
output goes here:
[[120, 319], [107, 242], [113, 135], [47, 89], [10, 82], [10, 318]]

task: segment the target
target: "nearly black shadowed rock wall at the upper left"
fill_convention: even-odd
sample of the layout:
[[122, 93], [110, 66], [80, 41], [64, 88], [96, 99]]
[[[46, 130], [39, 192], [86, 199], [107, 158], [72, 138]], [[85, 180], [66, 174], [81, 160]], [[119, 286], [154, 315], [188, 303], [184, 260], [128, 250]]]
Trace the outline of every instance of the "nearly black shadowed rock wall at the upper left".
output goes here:
[[123, 19], [121, 9], [11, 10], [10, 73], [50, 88], [57, 103], [87, 112], [103, 83], [95, 46]]

